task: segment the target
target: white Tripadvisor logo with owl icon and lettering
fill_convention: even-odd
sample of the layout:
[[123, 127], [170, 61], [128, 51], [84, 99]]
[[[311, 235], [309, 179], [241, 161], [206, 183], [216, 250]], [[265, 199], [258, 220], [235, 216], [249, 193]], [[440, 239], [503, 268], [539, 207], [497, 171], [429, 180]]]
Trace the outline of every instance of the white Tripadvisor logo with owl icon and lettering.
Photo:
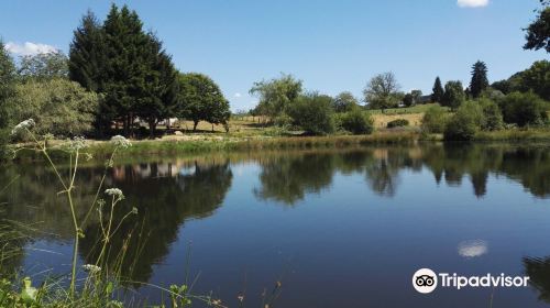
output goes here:
[[461, 289], [464, 287], [527, 287], [528, 276], [506, 276], [504, 273], [497, 276], [486, 274], [483, 276], [461, 276], [457, 273], [439, 273], [430, 268], [420, 268], [413, 275], [413, 286], [418, 293], [432, 293], [438, 285], [446, 288]]

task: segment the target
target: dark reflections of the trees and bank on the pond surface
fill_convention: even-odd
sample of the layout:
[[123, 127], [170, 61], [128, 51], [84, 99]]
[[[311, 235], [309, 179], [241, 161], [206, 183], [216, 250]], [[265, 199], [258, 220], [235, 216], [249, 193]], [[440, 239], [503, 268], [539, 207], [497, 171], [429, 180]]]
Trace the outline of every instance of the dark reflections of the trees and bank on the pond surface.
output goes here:
[[[339, 175], [358, 176], [363, 187], [383, 198], [394, 198], [407, 185], [404, 173], [429, 170], [435, 182], [450, 186], [471, 185], [472, 194], [487, 194], [491, 176], [504, 176], [537, 198], [550, 197], [550, 151], [544, 146], [506, 145], [442, 145], [414, 147], [372, 147], [352, 151], [245, 153], [170, 160], [120, 165], [109, 172], [106, 185], [124, 191], [127, 199], [116, 210], [118, 218], [136, 207], [139, 215], [125, 220], [112, 240], [109, 262], [118, 262], [118, 252], [125, 251], [123, 275], [146, 282], [153, 265], [168, 255], [170, 244], [186, 220], [211, 216], [222, 206], [231, 189], [235, 163], [257, 166], [257, 185], [251, 189], [256, 200], [271, 200], [295, 206], [309, 194], [320, 194], [332, 187]], [[66, 172], [66, 170], [63, 170]], [[9, 194], [0, 196], [6, 202], [0, 219], [25, 224], [40, 222], [42, 232], [33, 234], [45, 241], [70, 242], [70, 213], [53, 173], [41, 165], [24, 164], [6, 167], [0, 173], [0, 187], [20, 175]], [[79, 220], [88, 211], [102, 175], [101, 167], [84, 167], [78, 174], [76, 204]], [[250, 190], [248, 190], [250, 191]], [[106, 213], [103, 213], [106, 217]], [[80, 245], [84, 262], [92, 262], [98, 251], [99, 216], [84, 226], [86, 238]], [[19, 243], [25, 245], [26, 242]], [[461, 243], [460, 255], [474, 257], [487, 252], [484, 241]], [[526, 260], [528, 272], [540, 289], [550, 262]], [[10, 263], [10, 268], [21, 260]], [[3, 268], [4, 266], [2, 266]], [[548, 272], [544, 272], [548, 271]], [[543, 273], [543, 274], [537, 274]], [[539, 277], [540, 278], [537, 278]]]

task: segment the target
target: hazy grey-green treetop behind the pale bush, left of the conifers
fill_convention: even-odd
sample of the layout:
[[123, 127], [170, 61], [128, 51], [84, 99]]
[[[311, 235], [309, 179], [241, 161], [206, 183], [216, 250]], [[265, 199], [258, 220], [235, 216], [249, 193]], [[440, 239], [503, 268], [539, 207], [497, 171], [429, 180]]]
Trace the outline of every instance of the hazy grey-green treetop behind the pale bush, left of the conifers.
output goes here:
[[23, 56], [19, 66], [18, 73], [23, 81], [66, 78], [68, 75], [67, 56], [61, 51]]

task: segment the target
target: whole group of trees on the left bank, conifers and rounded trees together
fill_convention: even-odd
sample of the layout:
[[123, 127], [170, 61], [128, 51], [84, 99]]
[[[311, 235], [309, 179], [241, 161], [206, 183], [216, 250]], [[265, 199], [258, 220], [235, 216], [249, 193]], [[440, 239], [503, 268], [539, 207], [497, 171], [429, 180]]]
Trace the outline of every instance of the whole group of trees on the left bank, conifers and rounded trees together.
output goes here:
[[[135, 11], [116, 4], [100, 22], [88, 11], [62, 52], [24, 56], [18, 65], [0, 42], [2, 128], [33, 118], [57, 136], [148, 135], [170, 118], [229, 129], [229, 101], [208, 76], [180, 73]], [[6, 134], [4, 134], [6, 135]]]

